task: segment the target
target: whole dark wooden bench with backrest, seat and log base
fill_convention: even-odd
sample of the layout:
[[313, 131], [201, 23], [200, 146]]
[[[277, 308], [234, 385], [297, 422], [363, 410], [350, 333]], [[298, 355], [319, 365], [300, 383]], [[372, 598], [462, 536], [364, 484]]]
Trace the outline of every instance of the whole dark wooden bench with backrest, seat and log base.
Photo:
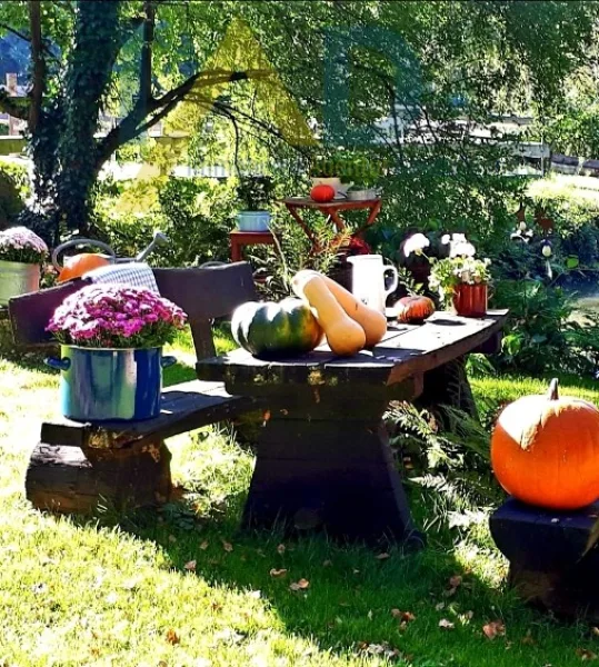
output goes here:
[[[188, 313], [198, 359], [216, 354], [212, 320], [256, 298], [247, 262], [153, 272], [161, 295]], [[16, 342], [40, 348], [51, 344], [46, 326], [52, 312], [84, 285], [76, 280], [12, 299]], [[26, 476], [27, 497], [39, 509], [77, 514], [92, 514], [99, 505], [132, 508], [166, 501], [171, 457], [164, 439], [230, 419], [252, 405], [228, 394], [222, 382], [193, 380], [164, 390], [156, 419], [101, 426], [44, 422]]]

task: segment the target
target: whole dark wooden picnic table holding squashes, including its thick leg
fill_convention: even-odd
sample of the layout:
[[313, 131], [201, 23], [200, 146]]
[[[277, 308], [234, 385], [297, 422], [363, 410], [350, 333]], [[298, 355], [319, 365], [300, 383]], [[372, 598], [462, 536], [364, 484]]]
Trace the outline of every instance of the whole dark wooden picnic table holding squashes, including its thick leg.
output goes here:
[[223, 380], [227, 391], [264, 409], [242, 526], [422, 544], [383, 414], [390, 400], [419, 396], [462, 407], [445, 371], [457, 366], [467, 385], [465, 356], [498, 339], [506, 318], [505, 310], [485, 319], [437, 312], [421, 326], [390, 325], [379, 345], [351, 358], [323, 346], [288, 360], [237, 349], [199, 361], [200, 379]]

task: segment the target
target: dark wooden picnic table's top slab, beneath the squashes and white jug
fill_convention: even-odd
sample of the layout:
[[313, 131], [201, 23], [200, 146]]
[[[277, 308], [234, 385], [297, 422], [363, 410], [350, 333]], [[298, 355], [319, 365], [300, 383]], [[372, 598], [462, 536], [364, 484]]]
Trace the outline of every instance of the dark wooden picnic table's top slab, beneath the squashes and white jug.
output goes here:
[[400, 382], [466, 355], [500, 331], [507, 310], [473, 319], [436, 312], [423, 325], [390, 322], [383, 339], [353, 357], [338, 357], [327, 345], [290, 359], [257, 359], [243, 349], [198, 361], [200, 379], [239, 384]]

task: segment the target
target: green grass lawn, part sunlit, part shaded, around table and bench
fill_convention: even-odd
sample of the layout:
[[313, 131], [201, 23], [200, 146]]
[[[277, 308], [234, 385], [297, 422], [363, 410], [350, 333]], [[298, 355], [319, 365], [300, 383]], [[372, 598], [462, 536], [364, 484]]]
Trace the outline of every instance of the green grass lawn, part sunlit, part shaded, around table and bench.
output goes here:
[[[178, 349], [182, 359], [191, 352], [184, 340]], [[442, 491], [409, 485], [429, 537], [416, 555], [239, 535], [252, 456], [223, 429], [169, 441], [186, 505], [118, 522], [110, 512], [87, 522], [37, 512], [23, 476], [39, 422], [56, 409], [57, 376], [36, 358], [0, 358], [0, 374], [3, 667], [563, 667], [599, 653], [590, 628], [560, 625], [506, 589], [489, 508], [458, 520]], [[167, 380], [192, 375], [180, 367]], [[591, 382], [562, 385], [599, 401]], [[489, 411], [543, 384], [480, 378], [473, 387]], [[491, 640], [482, 627], [492, 621], [505, 635]]]

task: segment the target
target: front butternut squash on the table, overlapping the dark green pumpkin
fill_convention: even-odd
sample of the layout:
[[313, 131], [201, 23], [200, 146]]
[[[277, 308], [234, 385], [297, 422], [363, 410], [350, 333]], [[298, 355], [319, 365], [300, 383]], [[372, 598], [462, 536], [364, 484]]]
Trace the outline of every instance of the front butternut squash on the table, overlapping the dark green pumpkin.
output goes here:
[[322, 327], [331, 350], [340, 357], [351, 357], [363, 349], [362, 327], [346, 315], [320, 276], [309, 276], [303, 282], [303, 297]]

